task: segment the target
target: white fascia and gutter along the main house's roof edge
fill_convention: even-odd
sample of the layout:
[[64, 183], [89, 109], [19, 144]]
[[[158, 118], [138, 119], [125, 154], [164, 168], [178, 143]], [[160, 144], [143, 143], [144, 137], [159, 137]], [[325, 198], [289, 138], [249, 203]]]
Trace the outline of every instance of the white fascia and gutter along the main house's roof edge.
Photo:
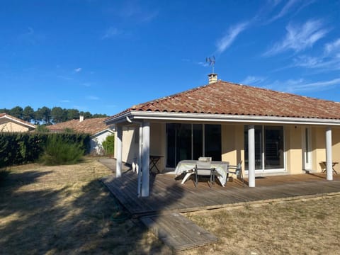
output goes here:
[[229, 114], [207, 114], [207, 113], [161, 113], [146, 111], [130, 111], [117, 118], [108, 120], [108, 123], [125, 123], [126, 118], [130, 120], [177, 120], [216, 123], [267, 123], [267, 124], [291, 124], [291, 125], [339, 125], [340, 120], [322, 118], [293, 118], [277, 116], [258, 115], [229, 115]]

